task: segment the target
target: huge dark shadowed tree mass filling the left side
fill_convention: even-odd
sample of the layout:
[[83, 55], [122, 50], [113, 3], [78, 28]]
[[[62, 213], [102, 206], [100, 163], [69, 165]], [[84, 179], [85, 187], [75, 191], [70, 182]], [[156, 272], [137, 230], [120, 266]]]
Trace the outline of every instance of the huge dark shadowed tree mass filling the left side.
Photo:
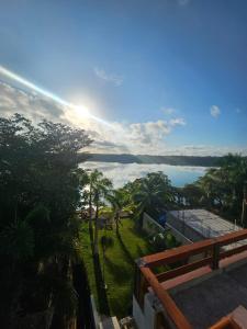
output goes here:
[[20, 308], [23, 321], [53, 308], [59, 328], [66, 327], [69, 309], [75, 311], [69, 272], [79, 252], [77, 154], [90, 143], [82, 129], [60, 123], [0, 117], [0, 318], [5, 328], [21, 320]]

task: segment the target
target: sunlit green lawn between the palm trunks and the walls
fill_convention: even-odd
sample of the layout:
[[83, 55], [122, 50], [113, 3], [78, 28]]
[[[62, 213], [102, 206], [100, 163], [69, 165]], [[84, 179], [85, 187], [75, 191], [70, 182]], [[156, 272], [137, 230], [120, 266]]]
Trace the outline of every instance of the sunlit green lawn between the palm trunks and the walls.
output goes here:
[[[108, 300], [112, 315], [119, 318], [130, 314], [132, 305], [133, 282], [134, 282], [134, 260], [154, 250], [147, 239], [134, 229], [131, 219], [123, 219], [120, 227], [123, 243], [116, 237], [114, 230], [101, 230], [102, 235], [111, 236], [114, 245], [105, 253], [105, 283], [108, 285]], [[81, 231], [83, 261], [88, 271], [90, 287], [99, 305], [101, 300], [97, 296], [97, 286], [93, 272], [93, 261], [91, 254], [88, 225], [82, 225]], [[103, 269], [103, 256], [100, 247], [100, 262]]]

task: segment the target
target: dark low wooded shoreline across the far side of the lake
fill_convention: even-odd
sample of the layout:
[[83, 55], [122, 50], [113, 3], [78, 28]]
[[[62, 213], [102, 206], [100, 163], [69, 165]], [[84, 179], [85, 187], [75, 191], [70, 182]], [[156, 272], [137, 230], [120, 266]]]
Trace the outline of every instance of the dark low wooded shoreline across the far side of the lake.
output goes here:
[[222, 157], [79, 154], [81, 161], [217, 167]]

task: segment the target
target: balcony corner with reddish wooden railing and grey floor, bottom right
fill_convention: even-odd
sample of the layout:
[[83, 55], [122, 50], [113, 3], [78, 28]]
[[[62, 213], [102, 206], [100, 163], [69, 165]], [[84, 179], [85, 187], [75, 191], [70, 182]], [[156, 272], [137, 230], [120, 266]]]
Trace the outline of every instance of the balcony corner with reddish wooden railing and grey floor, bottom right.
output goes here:
[[[242, 229], [139, 259], [133, 296], [137, 328], [246, 329], [246, 239]], [[167, 265], [164, 273], [155, 271]]]

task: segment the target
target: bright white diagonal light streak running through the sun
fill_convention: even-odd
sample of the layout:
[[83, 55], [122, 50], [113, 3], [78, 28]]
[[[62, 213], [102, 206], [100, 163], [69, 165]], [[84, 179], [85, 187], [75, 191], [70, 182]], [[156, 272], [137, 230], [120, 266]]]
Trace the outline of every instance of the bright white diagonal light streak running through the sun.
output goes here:
[[31, 89], [31, 90], [33, 90], [33, 91], [35, 91], [35, 92], [37, 92], [37, 93], [40, 93], [40, 94], [48, 98], [48, 99], [52, 99], [53, 101], [55, 101], [55, 102], [57, 102], [57, 103], [59, 103], [59, 104], [61, 104], [64, 106], [67, 106], [67, 107], [71, 109], [71, 110], [74, 110], [76, 112], [76, 114], [79, 115], [79, 116], [81, 116], [81, 117], [82, 116], [87, 116], [87, 117], [92, 118], [92, 120], [94, 120], [94, 121], [97, 121], [97, 122], [99, 122], [99, 123], [101, 123], [103, 125], [112, 127], [112, 125], [109, 122], [106, 122], [106, 121], [104, 121], [104, 120], [102, 120], [102, 118], [100, 118], [100, 117], [91, 114], [90, 111], [89, 111], [89, 109], [87, 109], [86, 106], [80, 106], [80, 105], [76, 105], [76, 104], [69, 103], [69, 102], [63, 100], [61, 98], [59, 98], [58, 95], [56, 95], [56, 94], [54, 94], [54, 93], [52, 93], [52, 92], [49, 92], [49, 91], [47, 91], [47, 90], [45, 90], [43, 88], [40, 88], [38, 86], [36, 86], [33, 82], [26, 80], [25, 78], [22, 78], [21, 76], [16, 75], [16, 73], [14, 73], [14, 72], [12, 72], [10, 70], [8, 70], [3, 66], [0, 66], [0, 75], [4, 76], [4, 77], [7, 77], [7, 78], [9, 78], [9, 79], [11, 79], [13, 81], [16, 81], [16, 82], [19, 82], [22, 86], [25, 86], [26, 88], [29, 88], [29, 89]]

